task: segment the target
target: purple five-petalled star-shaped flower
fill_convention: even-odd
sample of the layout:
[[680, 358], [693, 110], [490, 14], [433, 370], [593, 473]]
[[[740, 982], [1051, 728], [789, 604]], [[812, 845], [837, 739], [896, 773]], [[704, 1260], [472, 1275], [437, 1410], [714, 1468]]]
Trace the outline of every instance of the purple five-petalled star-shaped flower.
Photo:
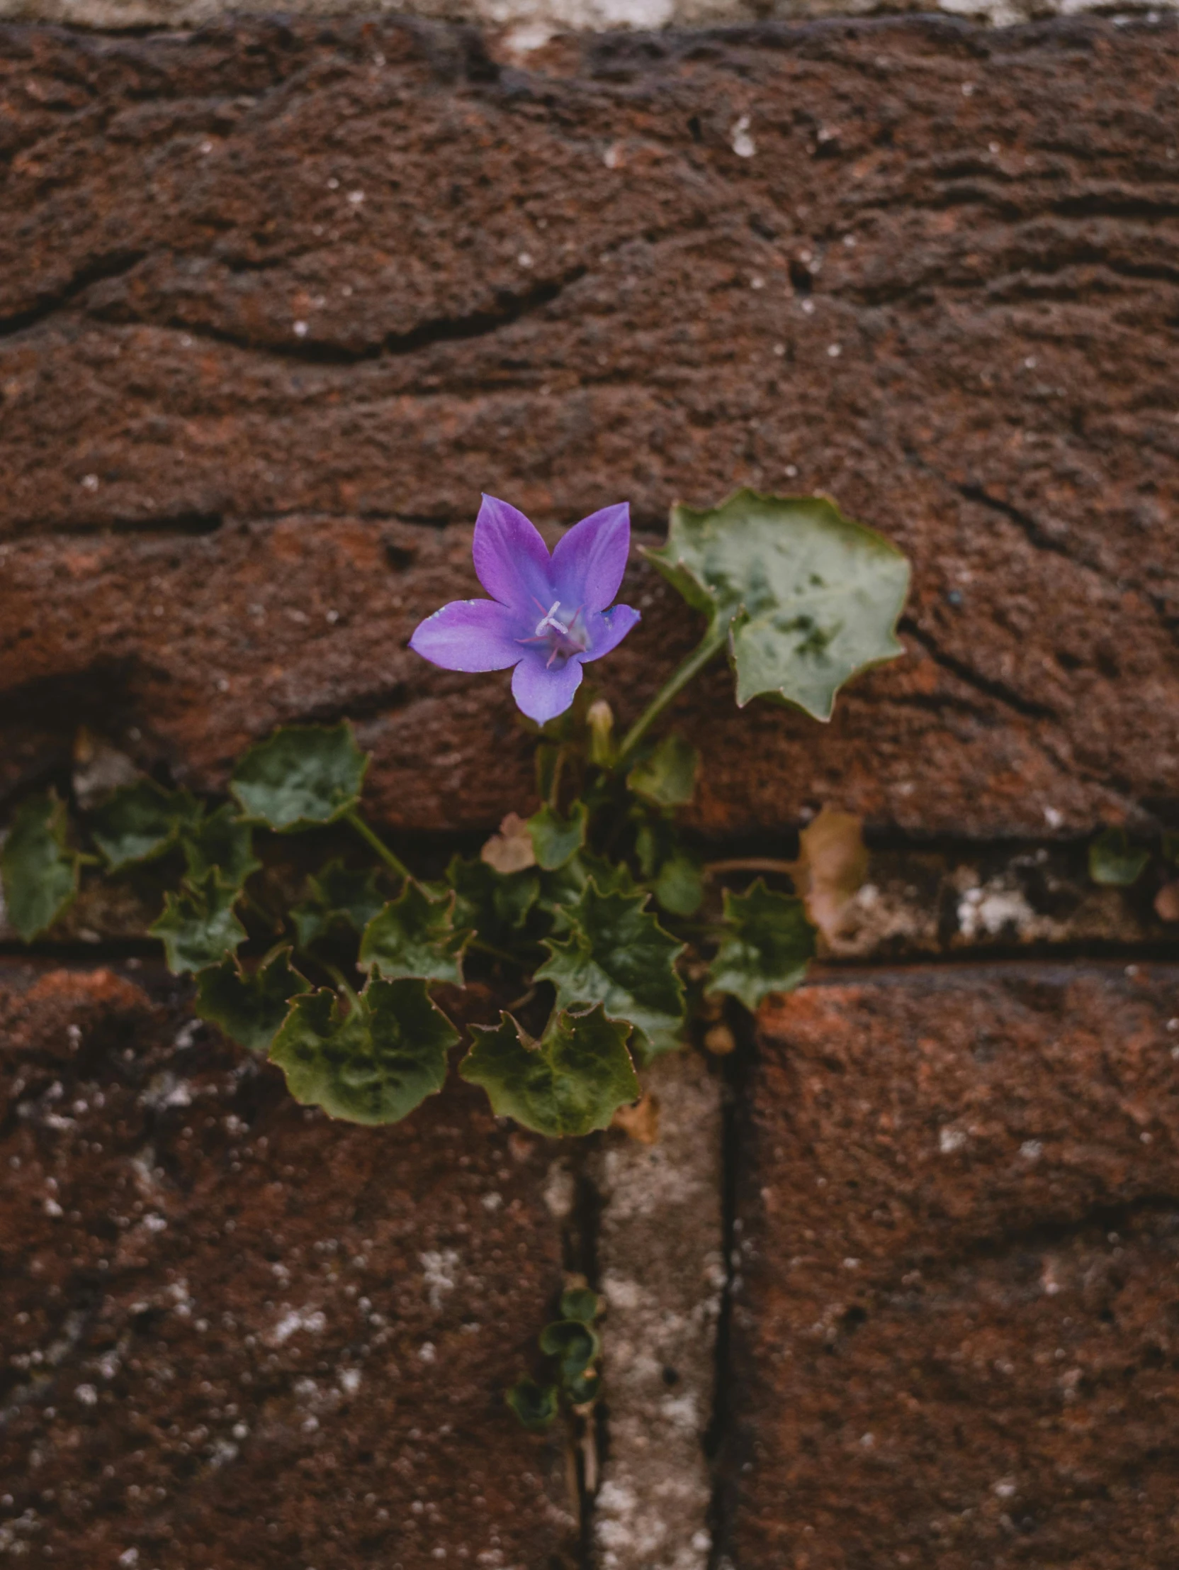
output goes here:
[[522, 512], [484, 496], [475, 571], [491, 600], [452, 600], [409, 647], [447, 670], [506, 670], [511, 696], [539, 725], [563, 714], [586, 659], [600, 659], [640, 620], [618, 593], [630, 551], [630, 506], [602, 507], [549, 548]]

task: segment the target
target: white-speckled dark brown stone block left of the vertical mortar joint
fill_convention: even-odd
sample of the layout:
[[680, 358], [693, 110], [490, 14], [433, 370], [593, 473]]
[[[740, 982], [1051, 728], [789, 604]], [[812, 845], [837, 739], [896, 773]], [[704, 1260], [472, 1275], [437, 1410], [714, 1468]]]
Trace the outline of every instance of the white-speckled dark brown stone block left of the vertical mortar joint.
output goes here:
[[458, 1085], [331, 1124], [110, 970], [9, 966], [0, 1030], [0, 1553], [574, 1562], [503, 1407], [561, 1286], [544, 1141]]

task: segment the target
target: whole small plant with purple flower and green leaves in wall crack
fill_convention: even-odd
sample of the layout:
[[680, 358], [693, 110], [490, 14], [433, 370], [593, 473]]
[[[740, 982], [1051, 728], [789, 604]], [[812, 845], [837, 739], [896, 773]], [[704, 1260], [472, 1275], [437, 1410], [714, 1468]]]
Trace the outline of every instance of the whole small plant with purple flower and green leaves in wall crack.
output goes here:
[[[478, 973], [516, 1002], [469, 1028], [458, 1072], [539, 1134], [605, 1127], [638, 1099], [637, 1068], [685, 1041], [706, 997], [757, 1008], [796, 986], [814, 951], [800, 898], [762, 878], [723, 892], [709, 881], [677, 824], [701, 760], [657, 724], [721, 653], [738, 705], [765, 697], [828, 719], [845, 681], [901, 652], [908, 589], [905, 556], [825, 498], [743, 490], [674, 507], [666, 545], [646, 554], [704, 630], [619, 739], [582, 683], [640, 620], [615, 604], [629, 543], [624, 506], [550, 554], [522, 513], [484, 498], [473, 556], [491, 598], [444, 606], [411, 639], [450, 669], [511, 669], [536, 733], [541, 805], [506, 818], [478, 857], [411, 871], [361, 813], [368, 760], [350, 725], [293, 725], [246, 752], [224, 802], [151, 779], [74, 820], [52, 791], [24, 801], [0, 857], [9, 920], [33, 940], [83, 868], [154, 865], [166, 893], [151, 931], [169, 967], [196, 978], [198, 1014], [276, 1063], [299, 1102], [362, 1124], [397, 1123], [442, 1088], [461, 1033], [437, 994]], [[336, 843], [292, 896], [273, 876], [282, 848], [298, 840], [306, 857], [332, 829], [354, 851]], [[553, 1350], [563, 1369], [574, 1350]]]

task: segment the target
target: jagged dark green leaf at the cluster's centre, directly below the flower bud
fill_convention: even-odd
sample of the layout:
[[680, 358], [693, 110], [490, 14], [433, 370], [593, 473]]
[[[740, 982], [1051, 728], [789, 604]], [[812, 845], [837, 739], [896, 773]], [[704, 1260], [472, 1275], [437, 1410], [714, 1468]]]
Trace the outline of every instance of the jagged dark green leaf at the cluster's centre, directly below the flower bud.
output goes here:
[[553, 983], [558, 1008], [600, 1003], [610, 1019], [629, 1020], [641, 1031], [633, 1046], [654, 1055], [679, 1046], [684, 983], [676, 958], [684, 945], [644, 909], [648, 898], [599, 893], [593, 879], [586, 882], [563, 911], [569, 937], [544, 940], [552, 959], [536, 980]]

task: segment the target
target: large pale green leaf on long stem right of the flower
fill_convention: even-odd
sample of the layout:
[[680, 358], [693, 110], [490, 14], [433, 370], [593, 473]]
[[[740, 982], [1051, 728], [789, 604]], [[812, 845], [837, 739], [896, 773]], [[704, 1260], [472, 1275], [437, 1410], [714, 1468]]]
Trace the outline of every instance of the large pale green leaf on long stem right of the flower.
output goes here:
[[768, 694], [829, 719], [845, 681], [903, 653], [909, 564], [825, 496], [738, 490], [704, 512], [677, 504], [668, 543], [644, 554], [729, 630], [742, 706]]

